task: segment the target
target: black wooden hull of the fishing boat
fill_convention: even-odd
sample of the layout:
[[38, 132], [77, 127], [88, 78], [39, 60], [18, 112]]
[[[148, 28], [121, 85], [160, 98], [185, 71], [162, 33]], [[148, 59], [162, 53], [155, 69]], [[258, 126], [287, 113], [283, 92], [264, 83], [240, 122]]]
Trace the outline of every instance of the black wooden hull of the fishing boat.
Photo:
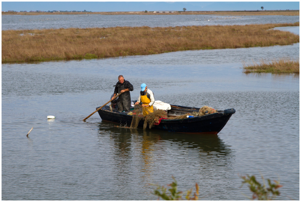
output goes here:
[[[98, 108], [99, 107], [96, 109]], [[130, 110], [134, 110], [134, 107], [131, 107]], [[168, 117], [175, 117], [186, 113], [196, 113], [199, 112], [199, 110], [200, 108], [195, 107], [171, 105], [171, 109], [167, 110], [167, 115]], [[98, 113], [103, 121], [119, 123], [125, 127], [129, 127], [133, 119], [133, 115], [129, 115], [129, 112], [119, 112], [116, 108], [110, 109], [110, 106], [108, 105], [98, 110]], [[234, 113], [235, 109], [232, 108], [218, 110], [217, 113], [206, 114], [204, 116], [194, 116], [185, 119], [161, 119], [158, 125], [153, 125], [151, 129], [181, 133], [218, 134]], [[141, 119], [138, 127], [143, 128], [143, 124], [144, 119]]]

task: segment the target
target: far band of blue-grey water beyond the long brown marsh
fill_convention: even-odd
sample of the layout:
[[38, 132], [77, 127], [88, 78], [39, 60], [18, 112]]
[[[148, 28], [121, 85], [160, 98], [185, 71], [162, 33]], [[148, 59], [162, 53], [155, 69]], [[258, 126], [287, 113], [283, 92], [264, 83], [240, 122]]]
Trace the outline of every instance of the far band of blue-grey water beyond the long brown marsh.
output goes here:
[[[225, 19], [227, 17], [228, 19]], [[2, 30], [116, 26], [247, 25], [299, 22], [299, 16], [266, 15], [234, 17], [219, 15], [2, 15]]]

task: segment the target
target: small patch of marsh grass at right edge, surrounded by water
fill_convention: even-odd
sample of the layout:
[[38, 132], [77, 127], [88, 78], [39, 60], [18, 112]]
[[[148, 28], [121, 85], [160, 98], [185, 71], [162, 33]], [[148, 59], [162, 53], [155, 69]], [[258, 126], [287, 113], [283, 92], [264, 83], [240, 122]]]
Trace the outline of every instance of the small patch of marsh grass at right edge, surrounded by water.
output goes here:
[[272, 62], [267, 62], [261, 60], [259, 64], [243, 64], [244, 73], [295, 73], [299, 74], [300, 65], [299, 61], [293, 61], [288, 58], [283, 58], [279, 60], [273, 60]]

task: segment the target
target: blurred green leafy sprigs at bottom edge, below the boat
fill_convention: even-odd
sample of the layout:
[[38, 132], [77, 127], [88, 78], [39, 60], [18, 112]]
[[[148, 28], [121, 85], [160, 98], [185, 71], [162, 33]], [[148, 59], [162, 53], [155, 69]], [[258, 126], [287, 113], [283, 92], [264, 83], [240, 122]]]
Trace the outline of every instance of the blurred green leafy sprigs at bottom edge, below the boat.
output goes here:
[[[154, 194], [162, 198], [163, 200], [181, 200], [183, 192], [178, 191], [177, 181], [175, 180], [174, 177], [172, 177], [172, 179], [174, 181], [171, 184], [167, 185], [170, 187], [168, 189], [170, 194], [167, 193], [167, 188], [165, 188], [164, 186], [158, 186], [157, 189], [154, 191]], [[186, 200], [198, 200], [199, 186], [197, 185], [197, 183], [195, 183], [195, 189], [196, 192], [193, 194], [193, 197], [192, 197], [192, 189], [186, 192], [186, 196], [185, 196]]]

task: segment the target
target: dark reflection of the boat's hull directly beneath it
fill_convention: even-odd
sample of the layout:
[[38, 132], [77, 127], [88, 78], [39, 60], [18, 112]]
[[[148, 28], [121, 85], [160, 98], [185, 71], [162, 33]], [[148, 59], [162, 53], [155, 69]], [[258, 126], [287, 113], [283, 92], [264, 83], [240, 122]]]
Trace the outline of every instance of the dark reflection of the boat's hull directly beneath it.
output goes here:
[[[130, 154], [133, 148], [132, 144], [137, 143], [146, 150], [151, 145], [166, 145], [168, 143], [187, 149], [196, 149], [205, 153], [231, 153], [230, 146], [225, 145], [218, 135], [213, 134], [189, 135], [177, 132], [166, 133], [165, 131], [143, 130], [142, 128], [112, 127], [108, 123], [101, 123], [99, 125], [100, 140], [104, 139], [104, 135], [113, 140], [116, 146], [115, 149], [121, 151], [123, 154]], [[137, 148], [140, 146], [137, 146]], [[158, 146], [158, 148], [162, 148], [162, 146]]]

